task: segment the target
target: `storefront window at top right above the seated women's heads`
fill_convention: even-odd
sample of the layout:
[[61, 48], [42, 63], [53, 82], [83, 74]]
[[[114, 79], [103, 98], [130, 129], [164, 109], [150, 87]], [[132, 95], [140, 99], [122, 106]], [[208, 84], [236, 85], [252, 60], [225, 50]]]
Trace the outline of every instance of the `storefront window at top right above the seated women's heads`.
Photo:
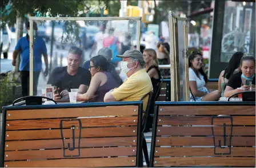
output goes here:
[[236, 51], [255, 55], [255, 3], [225, 2], [221, 62], [229, 62]]

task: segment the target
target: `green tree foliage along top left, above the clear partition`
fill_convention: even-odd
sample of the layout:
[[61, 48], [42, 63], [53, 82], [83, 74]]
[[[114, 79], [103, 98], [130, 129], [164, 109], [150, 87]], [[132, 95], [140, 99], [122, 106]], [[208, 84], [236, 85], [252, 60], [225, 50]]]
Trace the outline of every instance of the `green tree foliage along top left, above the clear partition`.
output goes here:
[[[2, 21], [14, 24], [16, 17], [78, 17], [79, 11], [100, 13], [109, 0], [2, 0]], [[6, 6], [9, 6], [8, 8]]]

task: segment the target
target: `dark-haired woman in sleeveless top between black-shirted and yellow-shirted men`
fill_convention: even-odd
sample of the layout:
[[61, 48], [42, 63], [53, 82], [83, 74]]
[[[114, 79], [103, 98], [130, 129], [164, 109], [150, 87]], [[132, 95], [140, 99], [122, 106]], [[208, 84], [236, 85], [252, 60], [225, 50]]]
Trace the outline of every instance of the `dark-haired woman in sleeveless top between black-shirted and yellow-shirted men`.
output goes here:
[[[109, 69], [110, 68], [110, 69]], [[95, 102], [103, 102], [104, 96], [111, 89], [119, 87], [119, 76], [110, 73], [111, 67], [107, 59], [102, 55], [94, 56], [90, 59], [91, 83], [86, 93], [78, 95], [79, 100], [91, 100], [95, 97]]]

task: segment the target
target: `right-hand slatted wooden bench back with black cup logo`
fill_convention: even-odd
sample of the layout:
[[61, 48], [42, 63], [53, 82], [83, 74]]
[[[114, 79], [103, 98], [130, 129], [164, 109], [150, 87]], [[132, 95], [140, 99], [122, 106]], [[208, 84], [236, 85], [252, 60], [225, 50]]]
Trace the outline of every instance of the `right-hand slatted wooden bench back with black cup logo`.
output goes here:
[[155, 116], [150, 167], [255, 167], [255, 102], [157, 102]]

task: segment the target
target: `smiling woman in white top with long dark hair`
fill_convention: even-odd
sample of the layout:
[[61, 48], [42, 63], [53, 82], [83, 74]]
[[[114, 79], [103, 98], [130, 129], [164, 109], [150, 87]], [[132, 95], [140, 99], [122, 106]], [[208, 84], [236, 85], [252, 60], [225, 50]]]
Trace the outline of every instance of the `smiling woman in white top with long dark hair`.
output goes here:
[[203, 72], [202, 66], [202, 54], [193, 52], [189, 56], [190, 101], [217, 101], [221, 97], [221, 91], [217, 90], [209, 93], [206, 88], [208, 79], [205, 72]]

